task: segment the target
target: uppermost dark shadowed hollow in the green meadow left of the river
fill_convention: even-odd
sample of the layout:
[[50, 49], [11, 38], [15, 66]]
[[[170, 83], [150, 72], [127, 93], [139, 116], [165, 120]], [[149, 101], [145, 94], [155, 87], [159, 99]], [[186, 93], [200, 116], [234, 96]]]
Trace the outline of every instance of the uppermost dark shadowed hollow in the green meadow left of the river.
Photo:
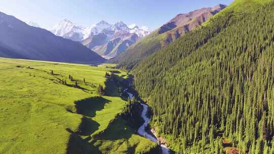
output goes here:
[[76, 112], [78, 114], [85, 115], [86, 117], [93, 118], [96, 115], [96, 111], [102, 110], [106, 103], [109, 103], [102, 97], [90, 97], [75, 102]]

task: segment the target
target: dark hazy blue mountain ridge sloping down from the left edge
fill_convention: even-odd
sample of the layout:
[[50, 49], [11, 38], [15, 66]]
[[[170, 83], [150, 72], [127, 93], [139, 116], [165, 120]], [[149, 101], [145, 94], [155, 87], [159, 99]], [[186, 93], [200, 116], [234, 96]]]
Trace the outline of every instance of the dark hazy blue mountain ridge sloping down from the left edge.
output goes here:
[[78, 42], [0, 12], [0, 57], [33, 60], [100, 63], [105, 59]]

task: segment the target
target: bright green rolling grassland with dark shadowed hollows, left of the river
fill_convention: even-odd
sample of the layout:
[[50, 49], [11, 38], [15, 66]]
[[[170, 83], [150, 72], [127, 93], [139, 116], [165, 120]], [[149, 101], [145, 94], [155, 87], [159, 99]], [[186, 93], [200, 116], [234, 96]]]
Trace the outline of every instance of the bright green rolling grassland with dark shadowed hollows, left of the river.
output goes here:
[[111, 67], [0, 58], [0, 153], [142, 153], [154, 148], [118, 116], [126, 101], [115, 84], [106, 88], [106, 96], [97, 93], [99, 84], [105, 87], [106, 72], [127, 77]]

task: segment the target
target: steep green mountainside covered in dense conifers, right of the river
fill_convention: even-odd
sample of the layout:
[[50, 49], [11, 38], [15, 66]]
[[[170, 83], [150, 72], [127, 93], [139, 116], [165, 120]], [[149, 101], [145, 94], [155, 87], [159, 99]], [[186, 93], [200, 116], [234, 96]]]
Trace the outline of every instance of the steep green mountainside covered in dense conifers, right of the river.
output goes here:
[[173, 150], [274, 153], [273, 1], [236, 0], [132, 72]]

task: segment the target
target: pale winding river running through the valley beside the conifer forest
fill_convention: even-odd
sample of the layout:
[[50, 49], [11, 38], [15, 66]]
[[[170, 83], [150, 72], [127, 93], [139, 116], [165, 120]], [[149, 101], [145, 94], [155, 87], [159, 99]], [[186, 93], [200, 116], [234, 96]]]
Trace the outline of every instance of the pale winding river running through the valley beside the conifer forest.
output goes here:
[[[125, 92], [129, 95], [130, 99], [133, 98], [133, 94], [128, 93], [127, 89], [125, 89]], [[142, 118], [144, 119], [145, 123], [138, 129], [138, 134], [146, 137], [147, 139], [149, 139], [155, 143], [158, 143], [157, 138], [155, 136], [150, 135], [150, 133], [146, 132], [146, 130], [145, 130], [145, 128], [148, 126], [148, 124], [150, 122], [150, 119], [147, 117], [147, 112], [148, 112], [149, 107], [147, 104], [141, 103], [141, 105], [144, 108], [142, 111]], [[161, 144], [160, 146], [162, 149], [162, 154], [169, 154], [169, 149], [165, 145]]]

